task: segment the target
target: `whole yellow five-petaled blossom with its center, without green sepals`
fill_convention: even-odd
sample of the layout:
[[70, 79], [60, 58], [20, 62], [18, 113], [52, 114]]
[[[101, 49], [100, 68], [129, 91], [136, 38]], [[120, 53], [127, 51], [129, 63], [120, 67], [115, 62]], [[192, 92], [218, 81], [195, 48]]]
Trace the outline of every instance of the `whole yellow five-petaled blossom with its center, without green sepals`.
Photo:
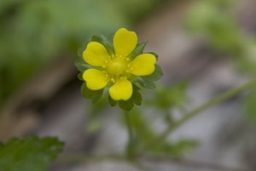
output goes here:
[[139, 54], [134, 60], [129, 54], [137, 46], [137, 35], [121, 28], [113, 36], [115, 54], [97, 42], [87, 44], [83, 59], [93, 68], [83, 73], [90, 90], [105, 88], [110, 83], [109, 94], [113, 100], [129, 100], [133, 93], [131, 76], [148, 76], [154, 72], [156, 58], [153, 54]]

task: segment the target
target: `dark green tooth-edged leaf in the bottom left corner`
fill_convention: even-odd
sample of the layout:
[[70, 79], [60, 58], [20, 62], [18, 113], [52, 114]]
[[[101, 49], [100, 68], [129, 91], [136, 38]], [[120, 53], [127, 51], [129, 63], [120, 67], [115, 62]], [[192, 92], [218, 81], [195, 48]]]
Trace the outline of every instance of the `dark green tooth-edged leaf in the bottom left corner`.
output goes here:
[[56, 138], [11, 139], [0, 145], [1, 171], [46, 171], [62, 147], [63, 143]]

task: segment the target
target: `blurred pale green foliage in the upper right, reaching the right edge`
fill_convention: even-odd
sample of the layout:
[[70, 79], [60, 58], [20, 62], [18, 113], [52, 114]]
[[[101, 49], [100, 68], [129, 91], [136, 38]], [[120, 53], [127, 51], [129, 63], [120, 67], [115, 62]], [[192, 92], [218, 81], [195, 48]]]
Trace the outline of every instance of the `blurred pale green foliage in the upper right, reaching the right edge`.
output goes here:
[[256, 75], [255, 38], [245, 36], [234, 18], [237, 1], [198, 1], [189, 10], [185, 26], [206, 37], [211, 47], [230, 54], [241, 71]]

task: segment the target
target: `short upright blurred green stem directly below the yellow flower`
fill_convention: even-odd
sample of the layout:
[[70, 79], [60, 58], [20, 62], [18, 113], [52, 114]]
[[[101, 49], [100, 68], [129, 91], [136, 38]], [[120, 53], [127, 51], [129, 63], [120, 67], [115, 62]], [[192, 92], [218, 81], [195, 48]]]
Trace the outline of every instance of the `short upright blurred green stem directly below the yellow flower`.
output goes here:
[[132, 159], [135, 154], [135, 134], [133, 134], [132, 124], [131, 124], [131, 113], [125, 111], [125, 123], [128, 131], [128, 142], [126, 146], [126, 155], [129, 159]]

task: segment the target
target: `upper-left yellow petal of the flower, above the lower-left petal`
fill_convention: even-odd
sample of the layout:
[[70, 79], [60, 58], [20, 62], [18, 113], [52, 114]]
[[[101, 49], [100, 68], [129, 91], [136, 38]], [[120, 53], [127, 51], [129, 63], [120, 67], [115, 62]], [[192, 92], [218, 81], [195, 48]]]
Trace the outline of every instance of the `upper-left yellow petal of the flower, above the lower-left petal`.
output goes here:
[[83, 58], [90, 66], [104, 66], [110, 60], [107, 49], [101, 43], [96, 42], [87, 44]]

